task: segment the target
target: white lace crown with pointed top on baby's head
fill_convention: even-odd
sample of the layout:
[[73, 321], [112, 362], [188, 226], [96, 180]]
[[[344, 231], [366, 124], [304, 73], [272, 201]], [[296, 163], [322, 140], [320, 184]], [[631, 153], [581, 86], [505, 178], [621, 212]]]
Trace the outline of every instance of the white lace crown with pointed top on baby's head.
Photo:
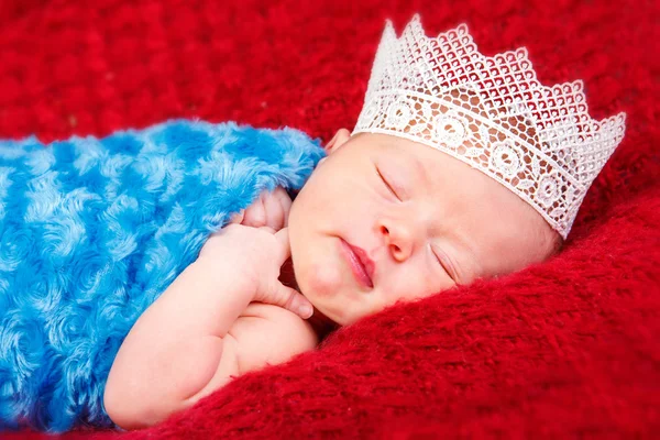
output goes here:
[[566, 238], [625, 132], [594, 121], [581, 80], [541, 85], [525, 47], [482, 55], [465, 24], [427, 37], [416, 14], [387, 21], [352, 134], [385, 133], [444, 152], [499, 182]]

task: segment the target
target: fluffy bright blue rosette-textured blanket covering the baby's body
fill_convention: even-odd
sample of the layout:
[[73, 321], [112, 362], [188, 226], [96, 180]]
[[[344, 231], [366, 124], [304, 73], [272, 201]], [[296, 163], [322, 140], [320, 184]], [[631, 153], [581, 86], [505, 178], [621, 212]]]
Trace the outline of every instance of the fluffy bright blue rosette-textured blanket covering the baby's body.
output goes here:
[[111, 426], [103, 387], [135, 320], [232, 213], [322, 156], [231, 122], [0, 141], [0, 430]]

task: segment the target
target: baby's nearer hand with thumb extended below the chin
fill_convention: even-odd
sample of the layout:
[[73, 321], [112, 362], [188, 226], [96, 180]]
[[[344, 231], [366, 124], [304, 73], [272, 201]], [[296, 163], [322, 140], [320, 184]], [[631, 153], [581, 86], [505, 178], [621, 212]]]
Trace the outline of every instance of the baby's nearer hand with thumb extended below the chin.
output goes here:
[[231, 264], [232, 273], [246, 277], [252, 286], [251, 301], [279, 306], [307, 319], [312, 315], [311, 302], [278, 279], [290, 253], [287, 228], [276, 232], [268, 227], [229, 224], [207, 240], [198, 260], [211, 270], [215, 264]]

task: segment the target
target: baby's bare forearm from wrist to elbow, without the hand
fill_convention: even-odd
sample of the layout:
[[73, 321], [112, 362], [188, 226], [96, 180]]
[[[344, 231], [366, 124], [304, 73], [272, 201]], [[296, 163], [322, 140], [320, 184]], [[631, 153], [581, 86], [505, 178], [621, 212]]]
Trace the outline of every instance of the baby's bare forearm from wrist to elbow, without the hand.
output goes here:
[[[213, 376], [228, 381], [224, 339], [252, 300], [248, 276], [200, 258], [140, 317], [114, 359], [103, 403], [122, 428], [153, 425], [190, 406]], [[218, 384], [221, 386], [222, 384]]]

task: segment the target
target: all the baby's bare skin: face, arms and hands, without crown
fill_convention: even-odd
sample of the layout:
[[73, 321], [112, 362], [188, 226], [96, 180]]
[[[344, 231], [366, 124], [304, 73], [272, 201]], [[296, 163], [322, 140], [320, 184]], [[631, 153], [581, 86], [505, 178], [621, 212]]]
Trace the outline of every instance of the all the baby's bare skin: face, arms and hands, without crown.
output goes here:
[[[508, 274], [559, 249], [534, 208], [444, 153], [344, 129], [327, 151], [293, 204], [282, 188], [264, 194], [140, 317], [106, 387], [114, 422], [153, 425], [237, 375], [311, 350], [333, 322]], [[342, 241], [373, 261], [371, 286]], [[295, 279], [285, 284], [296, 289], [278, 280], [289, 252]], [[299, 308], [309, 302], [306, 320]]]

